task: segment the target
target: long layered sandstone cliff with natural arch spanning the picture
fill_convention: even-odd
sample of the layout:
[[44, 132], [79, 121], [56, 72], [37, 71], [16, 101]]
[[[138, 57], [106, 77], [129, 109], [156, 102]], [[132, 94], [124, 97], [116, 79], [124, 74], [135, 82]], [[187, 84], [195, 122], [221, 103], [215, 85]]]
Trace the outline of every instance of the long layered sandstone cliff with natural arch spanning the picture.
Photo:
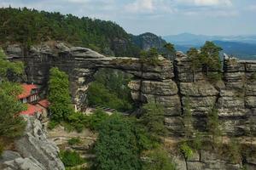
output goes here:
[[164, 105], [170, 135], [182, 135], [181, 114], [186, 98], [190, 101], [196, 127], [201, 130], [204, 130], [207, 113], [212, 107], [218, 109], [224, 133], [231, 135], [245, 135], [249, 122], [256, 115], [256, 61], [226, 56], [223, 80], [211, 83], [201, 69], [195, 71], [194, 77], [188, 57], [180, 52], [177, 52], [174, 63], [160, 59], [157, 65], [142, 63], [136, 58], [105, 57], [89, 48], [67, 47], [64, 43], [34, 46], [27, 55], [21, 52], [18, 45], [7, 50], [9, 59], [26, 63], [26, 82], [39, 84], [43, 90], [51, 67], [66, 71], [73, 103], [79, 109], [84, 107], [88, 83], [98, 69], [112, 68], [131, 73], [134, 76], [129, 83], [132, 98], [138, 104], [155, 101]]

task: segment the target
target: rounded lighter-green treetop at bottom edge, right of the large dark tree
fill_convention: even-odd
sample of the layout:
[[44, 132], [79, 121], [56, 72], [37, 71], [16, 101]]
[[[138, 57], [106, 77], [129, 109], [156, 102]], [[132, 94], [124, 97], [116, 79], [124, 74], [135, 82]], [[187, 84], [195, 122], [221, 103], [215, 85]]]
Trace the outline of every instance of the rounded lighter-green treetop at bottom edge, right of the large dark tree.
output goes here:
[[143, 162], [143, 170], [176, 170], [176, 165], [164, 149], [150, 150], [144, 156], [147, 159]]

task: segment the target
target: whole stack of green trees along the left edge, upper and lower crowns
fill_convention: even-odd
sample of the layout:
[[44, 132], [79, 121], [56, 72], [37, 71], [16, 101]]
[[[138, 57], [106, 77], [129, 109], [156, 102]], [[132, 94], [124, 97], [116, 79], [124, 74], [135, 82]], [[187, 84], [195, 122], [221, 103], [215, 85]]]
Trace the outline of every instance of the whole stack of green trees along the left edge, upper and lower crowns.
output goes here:
[[9, 72], [19, 75], [23, 72], [23, 65], [7, 60], [0, 48], [0, 137], [19, 136], [26, 127], [26, 122], [19, 115], [20, 111], [26, 110], [26, 106], [17, 99], [22, 89], [8, 81]]

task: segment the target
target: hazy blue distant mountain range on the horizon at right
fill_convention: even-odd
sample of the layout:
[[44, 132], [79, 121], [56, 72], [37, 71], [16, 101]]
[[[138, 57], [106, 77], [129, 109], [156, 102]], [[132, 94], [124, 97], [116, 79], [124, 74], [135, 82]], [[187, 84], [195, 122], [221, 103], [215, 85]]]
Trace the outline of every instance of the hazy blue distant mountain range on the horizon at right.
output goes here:
[[224, 53], [233, 54], [240, 59], [256, 59], [256, 35], [224, 37], [183, 33], [163, 38], [166, 42], [174, 43], [176, 49], [183, 52], [191, 47], [200, 48], [206, 41], [213, 41], [224, 49]]

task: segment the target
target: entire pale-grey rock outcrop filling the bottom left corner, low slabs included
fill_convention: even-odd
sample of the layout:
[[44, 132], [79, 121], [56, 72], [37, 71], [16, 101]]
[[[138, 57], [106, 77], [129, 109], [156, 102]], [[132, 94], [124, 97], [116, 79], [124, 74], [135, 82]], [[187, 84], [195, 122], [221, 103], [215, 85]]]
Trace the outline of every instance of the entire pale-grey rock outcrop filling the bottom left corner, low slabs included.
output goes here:
[[0, 159], [0, 169], [63, 170], [59, 149], [46, 139], [44, 127], [33, 117], [26, 118], [26, 133], [15, 141], [15, 152], [6, 150]]

